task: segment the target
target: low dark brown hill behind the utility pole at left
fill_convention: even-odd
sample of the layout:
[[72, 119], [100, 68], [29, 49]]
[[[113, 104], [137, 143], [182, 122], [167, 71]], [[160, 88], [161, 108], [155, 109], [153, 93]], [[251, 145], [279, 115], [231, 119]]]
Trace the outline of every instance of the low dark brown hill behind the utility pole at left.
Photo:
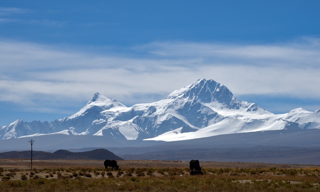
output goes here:
[[[31, 159], [31, 151], [10, 151], [0, 153], [0, 159]], [[107, 149], [95, 149], [85, 152], [70, 152], [67, 150], [58, 150], [54, 153], [44, 151], [32, 151], [32, 159], [48, 160], [48, 159], [66, 159], [66, 160], [123, 160]]]

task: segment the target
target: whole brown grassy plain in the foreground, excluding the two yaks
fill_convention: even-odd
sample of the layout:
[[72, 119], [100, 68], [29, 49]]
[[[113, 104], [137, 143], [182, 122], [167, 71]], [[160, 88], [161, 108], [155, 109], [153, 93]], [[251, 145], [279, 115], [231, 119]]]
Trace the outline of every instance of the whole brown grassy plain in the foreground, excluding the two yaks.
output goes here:
[[0, 160], [0, 191], [320, 191], [320, 167], [186, 161]]

